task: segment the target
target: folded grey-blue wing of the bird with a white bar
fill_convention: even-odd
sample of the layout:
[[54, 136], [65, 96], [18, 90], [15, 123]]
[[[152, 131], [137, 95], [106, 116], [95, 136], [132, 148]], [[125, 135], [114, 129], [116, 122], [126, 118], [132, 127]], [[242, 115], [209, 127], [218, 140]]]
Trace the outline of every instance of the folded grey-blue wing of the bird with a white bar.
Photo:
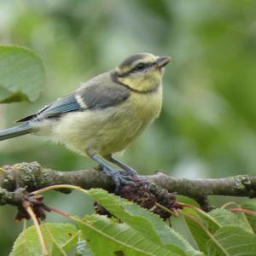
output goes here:
[[93, 83], [81, 87], [72, 94], [57, 99], [45, 106], [38, 113], [29, 115], [17, 122], [40, 121], [42, 119], [58, 118], [64, 113], [85, 111], [89, 109], [108, 108], [125, 101], [131, 91], [124, 86], [113, 83]]

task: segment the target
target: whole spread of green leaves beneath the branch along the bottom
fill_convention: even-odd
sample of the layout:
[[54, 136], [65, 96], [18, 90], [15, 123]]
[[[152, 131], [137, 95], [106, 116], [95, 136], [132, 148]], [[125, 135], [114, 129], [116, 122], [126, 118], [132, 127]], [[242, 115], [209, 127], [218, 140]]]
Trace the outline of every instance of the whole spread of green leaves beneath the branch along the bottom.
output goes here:
[[[180, 215], [195, 240], [197, 247], [193, 247], [179, 234], [179, 230], [173, 230], [158, 216], [131, 201], [102, 189], [83, 191], [105, 207], [112, 218], [97, 214], [71, 217], [77, 227], [72, 224], [42, 224], [49, 255], [67, 255], [75, 250], [76, 255], [96, 256], [256, 255], [256, 234], [253, 231], [256, 213], [247, 211], [255, 210], [253, 200], [239, 208], [247, 214], [226, 209], [206, 213], [197, 207], [185, 208]], [[10, 255], [40, 253], [38, 235], [34, 227], [30, 227], [20, 234]]]

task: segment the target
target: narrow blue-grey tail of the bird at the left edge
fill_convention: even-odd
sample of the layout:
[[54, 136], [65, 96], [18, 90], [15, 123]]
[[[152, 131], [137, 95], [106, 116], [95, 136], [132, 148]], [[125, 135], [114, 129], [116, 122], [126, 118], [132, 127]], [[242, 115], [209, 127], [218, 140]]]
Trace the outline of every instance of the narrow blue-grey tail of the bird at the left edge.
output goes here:
[[0, 131], [0, 141], [7, 140], [11, 137], [18, 137], [32, 132], [32, 126], [29, 123], [17, 125], [15, 127]]

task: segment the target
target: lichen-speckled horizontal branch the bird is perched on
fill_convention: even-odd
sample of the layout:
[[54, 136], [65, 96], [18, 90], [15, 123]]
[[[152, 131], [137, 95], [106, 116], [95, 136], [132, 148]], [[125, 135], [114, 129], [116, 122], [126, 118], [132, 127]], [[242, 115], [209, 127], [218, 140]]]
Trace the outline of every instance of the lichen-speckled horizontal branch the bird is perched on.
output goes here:
[[[162, 172], [157, 172], [152, 176], [140, 177], [169, 192], [189, 196], [198, 201], [206, 210], [209, 210], [208, 195], [256, 197], [256, 177], [247, 175], [190, 180], [170, 177]], [[102, 188], [108, 191], [114, 189], [111, 177], [96, 169], [59, 172], [44, 168], [37, 162], [21, 163], [14, 166], [3, 166], [0, 169], [0, 205], [16, 205], [21, 196], [19, 191], [23, 191], [19, 188], [26, 188], [27, 192], [32, 192], [56, 184], [71, 184], [84, 189]], [[68, 193], [67, 190], [61, 192]]]

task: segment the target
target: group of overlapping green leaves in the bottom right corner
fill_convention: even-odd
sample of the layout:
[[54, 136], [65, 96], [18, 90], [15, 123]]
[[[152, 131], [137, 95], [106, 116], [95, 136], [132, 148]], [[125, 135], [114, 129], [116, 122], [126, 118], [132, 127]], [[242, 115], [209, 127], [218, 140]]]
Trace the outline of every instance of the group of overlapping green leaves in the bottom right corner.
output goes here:
[[[251, 204], [242, 208], [245, 211], [256, 209]], [[203, 215], [195, 209], [186, 209], [185, 212], [189, 214], [185, 215], [186, 224], [203, 253], [212, 256], [256, 255], [256, 234], [253, 231], [256, 217], [252, 214], [219, 208]]]

